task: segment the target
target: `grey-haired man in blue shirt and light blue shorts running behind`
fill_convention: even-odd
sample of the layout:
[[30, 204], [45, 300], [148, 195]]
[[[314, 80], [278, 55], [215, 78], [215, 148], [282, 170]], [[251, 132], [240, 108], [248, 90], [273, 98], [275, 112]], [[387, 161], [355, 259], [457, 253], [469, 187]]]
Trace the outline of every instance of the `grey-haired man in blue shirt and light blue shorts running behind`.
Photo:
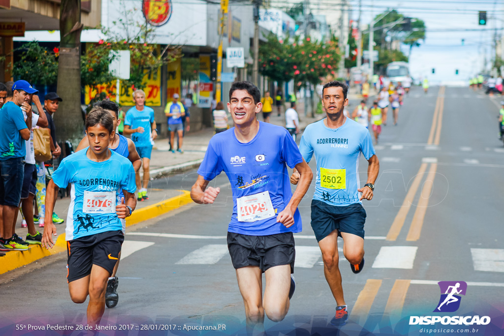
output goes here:
[[145, 106], [145, 92], [136, 90], [133, 92], [135, 107], [126, 112], [124, 119], [124, 135], [131, 135], [131, 140], [137, 147], [138, 155], [142, 158], [144, 175], [140, 179], [140, 172], [137, 173], [138, 200], [149, 199], [147, 187], [150, 179], [150, 162], [152, 146], [157, 138], [156, 121], [154, 120], [154, 110]]

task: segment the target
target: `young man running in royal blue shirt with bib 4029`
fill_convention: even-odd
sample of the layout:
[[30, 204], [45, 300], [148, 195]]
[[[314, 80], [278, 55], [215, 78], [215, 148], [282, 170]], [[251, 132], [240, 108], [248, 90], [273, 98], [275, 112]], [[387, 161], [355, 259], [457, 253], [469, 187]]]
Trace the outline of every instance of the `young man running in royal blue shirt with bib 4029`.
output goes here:
[[[209, 186], [209, 181], [222, 171], [228, 176], [233, 193], [229, 254], [245, 305], [247, 328], [262, 329], [265, 313], [269, 319], [281, 321], [289, 309], [295, 288], [291, 277], [293, 233], [302, 230], [297, 206], [313, 175], [289, 132], [257, 119], [262, 103], [254, 84], [233, 83], [229, 100], [227, 108], [235, 127], [210, 140], [191, 198], [198, 204], [214, 203], [220, 188]], [[300, 174], [294, 194], [287, 166]]]

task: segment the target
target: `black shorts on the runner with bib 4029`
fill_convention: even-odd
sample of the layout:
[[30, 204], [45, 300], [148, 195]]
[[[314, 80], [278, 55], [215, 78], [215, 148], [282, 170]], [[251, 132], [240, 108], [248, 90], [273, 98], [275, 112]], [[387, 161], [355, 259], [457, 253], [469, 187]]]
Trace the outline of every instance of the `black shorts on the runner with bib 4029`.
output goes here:
[[227, 233], [227, 247], [234, 268], [258, 266], [266, 272], [268, 268], [290, 264], [290, 273], [294, 273], [294, 235], [284, 232], [268, 236], [248, 236], [239, 233]]

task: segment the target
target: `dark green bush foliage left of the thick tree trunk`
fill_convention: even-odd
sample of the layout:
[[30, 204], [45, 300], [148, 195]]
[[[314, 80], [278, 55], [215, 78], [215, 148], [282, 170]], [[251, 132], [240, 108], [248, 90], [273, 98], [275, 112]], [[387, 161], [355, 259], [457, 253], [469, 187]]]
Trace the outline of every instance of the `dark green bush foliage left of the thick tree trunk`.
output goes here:
[[32, 85], [56, 83], [58, 74], [57, 48], [50, 51], [36, 41], [25, 43], [15, 51], [20, 57], [14, 62], [13, 76]]

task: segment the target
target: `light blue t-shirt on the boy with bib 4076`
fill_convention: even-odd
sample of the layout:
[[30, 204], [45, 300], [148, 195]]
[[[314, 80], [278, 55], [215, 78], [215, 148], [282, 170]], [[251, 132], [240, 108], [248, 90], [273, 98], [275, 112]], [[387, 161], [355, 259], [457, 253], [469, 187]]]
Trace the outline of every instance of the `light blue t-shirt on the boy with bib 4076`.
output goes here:
[[[137, 190], [135, 170], [130, 160], [111, 151], [108, 160], [95, 162], [86, 156], [88, 150], [89, 147], [66, 157], [52, 174], [52, 180], [60, 188], [72, 183], [67, 240], [121, 230], [122, 224], [115, 214], [115, 206], [120, 203], [119, 190]], [[110, 206], [114, 210], [100, 213], [100, 208], [107, 206], [103, 196], [108, 192], [115, 193], [115, 203]]]

